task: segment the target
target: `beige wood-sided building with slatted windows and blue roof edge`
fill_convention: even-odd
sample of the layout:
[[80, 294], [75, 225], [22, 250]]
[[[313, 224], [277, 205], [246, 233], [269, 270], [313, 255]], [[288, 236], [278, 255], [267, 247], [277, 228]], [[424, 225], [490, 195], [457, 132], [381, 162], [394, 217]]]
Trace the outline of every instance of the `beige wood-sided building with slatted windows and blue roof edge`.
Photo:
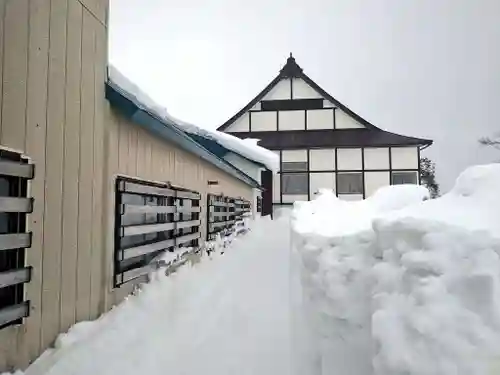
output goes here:
[[258, 187], [108, 81], [108, 7], [0, 0], [0, 372], [201, 246], [209, 196]]

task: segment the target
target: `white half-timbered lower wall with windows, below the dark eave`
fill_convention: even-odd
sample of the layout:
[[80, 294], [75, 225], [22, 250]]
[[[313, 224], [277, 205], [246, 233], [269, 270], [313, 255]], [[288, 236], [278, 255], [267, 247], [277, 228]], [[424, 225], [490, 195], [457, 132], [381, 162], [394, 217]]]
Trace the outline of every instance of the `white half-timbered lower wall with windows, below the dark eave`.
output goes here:
[[321, 189], [332, 190], [345, 200], [359, 200], [371, 196], [383, 186], [419, 183], [417, 147], [275, 152], [281, 165], [280, 172], [274, 176], [275, 204], [310, 200]]

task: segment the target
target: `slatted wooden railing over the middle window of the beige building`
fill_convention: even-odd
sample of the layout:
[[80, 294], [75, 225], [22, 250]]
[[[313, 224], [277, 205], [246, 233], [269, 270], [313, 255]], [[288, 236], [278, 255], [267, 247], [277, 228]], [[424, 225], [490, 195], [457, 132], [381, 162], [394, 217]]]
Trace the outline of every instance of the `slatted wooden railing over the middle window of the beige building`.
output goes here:
[[165, 264], [167, 252], [199, 248], [200, 194], [118, 177], [115, 220], [115, 286], [120, 286]]

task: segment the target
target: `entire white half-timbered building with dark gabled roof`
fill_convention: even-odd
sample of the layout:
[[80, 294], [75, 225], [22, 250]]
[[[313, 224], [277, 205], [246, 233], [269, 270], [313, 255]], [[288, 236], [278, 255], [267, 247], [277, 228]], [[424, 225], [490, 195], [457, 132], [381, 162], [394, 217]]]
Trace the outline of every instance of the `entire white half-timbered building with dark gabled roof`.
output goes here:
[[260, 139], [281, 160], [273, 203], [310, 200], [321, 188], [346, 200], [391, 184], [419, 183], [420, 150], [432, 141], [371, 124], [310, 79], [290, 55], [280, 73], [218, 129]]

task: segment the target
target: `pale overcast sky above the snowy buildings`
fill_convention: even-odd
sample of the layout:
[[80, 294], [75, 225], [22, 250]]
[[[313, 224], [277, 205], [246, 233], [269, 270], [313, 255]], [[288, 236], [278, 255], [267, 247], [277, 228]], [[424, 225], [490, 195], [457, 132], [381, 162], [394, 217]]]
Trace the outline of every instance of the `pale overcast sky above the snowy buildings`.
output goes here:
[[110, 60], [170, 113], [215, 128], [293, 52], [375, 125], [431, 138], [444, 190], [500, 159], [500, 0], [111, 0]]

